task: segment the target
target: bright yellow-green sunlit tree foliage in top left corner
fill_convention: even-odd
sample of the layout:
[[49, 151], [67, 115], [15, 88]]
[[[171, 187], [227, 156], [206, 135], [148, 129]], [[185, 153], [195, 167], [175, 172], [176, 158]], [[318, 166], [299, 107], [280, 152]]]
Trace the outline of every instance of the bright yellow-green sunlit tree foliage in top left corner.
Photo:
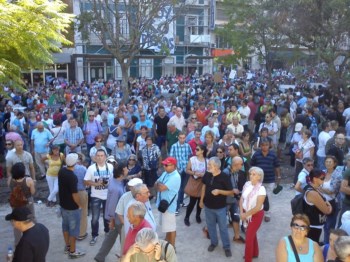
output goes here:
[[53, 63], [52, 52], [71, 44], [64, 33], [73, 16], [65, 7], [59, 0], [0, 0], [0, 82], [20, 87], [21, 70]]

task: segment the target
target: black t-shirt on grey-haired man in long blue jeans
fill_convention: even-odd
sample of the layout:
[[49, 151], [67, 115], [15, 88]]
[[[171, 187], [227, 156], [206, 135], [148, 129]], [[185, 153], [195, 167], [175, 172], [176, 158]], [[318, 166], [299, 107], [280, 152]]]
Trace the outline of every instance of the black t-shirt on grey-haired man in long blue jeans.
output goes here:
[[211, 209], [220, 209], [226, 206], [226, 196], [214, 196], [211, 191], [214, 189], [232, 190], [230, 177], [224, 173], [213, 176], [212, 173], [206, 172], [202, 178], [205, 187], [204, 205]]

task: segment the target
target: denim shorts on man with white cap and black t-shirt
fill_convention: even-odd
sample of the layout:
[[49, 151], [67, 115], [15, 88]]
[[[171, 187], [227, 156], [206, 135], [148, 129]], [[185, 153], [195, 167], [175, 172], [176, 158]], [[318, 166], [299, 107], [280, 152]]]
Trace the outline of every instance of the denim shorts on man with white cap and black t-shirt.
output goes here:
[[68, 232], [71, 237], [78, 237], [80, 234], [81, 209], [67, 210], [61, 208], [62, 231]]

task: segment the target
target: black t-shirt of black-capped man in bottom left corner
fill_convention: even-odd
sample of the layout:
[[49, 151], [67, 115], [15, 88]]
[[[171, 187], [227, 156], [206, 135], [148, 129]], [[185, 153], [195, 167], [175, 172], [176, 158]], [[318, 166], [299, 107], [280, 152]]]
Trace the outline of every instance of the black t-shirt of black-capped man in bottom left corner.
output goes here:
[[36, 223], [23, 232], [16, 246], [13, 262], [45, 262], [49, 245], [49, 230], [44, 225]]

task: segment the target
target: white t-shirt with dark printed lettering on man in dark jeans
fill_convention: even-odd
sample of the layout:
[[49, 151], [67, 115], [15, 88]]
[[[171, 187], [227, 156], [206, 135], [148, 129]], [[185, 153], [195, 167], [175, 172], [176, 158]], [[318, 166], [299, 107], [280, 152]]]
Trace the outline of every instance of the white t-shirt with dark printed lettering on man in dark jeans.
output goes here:
[[104, 179], [106, 181], [105, 185], [91, 186], [91, 197], [106, 200], [108, 192], [108, 182], [109, 179], [113, 177], [113, 166], [111, 164], [106, 164], [103, 167], [99, 166], [98, 170], [96, 169], [96, 167], [96, 164], [89, 166], [89, 168], [86, 171], [84, 180], [98, 182], [99, 179]]

